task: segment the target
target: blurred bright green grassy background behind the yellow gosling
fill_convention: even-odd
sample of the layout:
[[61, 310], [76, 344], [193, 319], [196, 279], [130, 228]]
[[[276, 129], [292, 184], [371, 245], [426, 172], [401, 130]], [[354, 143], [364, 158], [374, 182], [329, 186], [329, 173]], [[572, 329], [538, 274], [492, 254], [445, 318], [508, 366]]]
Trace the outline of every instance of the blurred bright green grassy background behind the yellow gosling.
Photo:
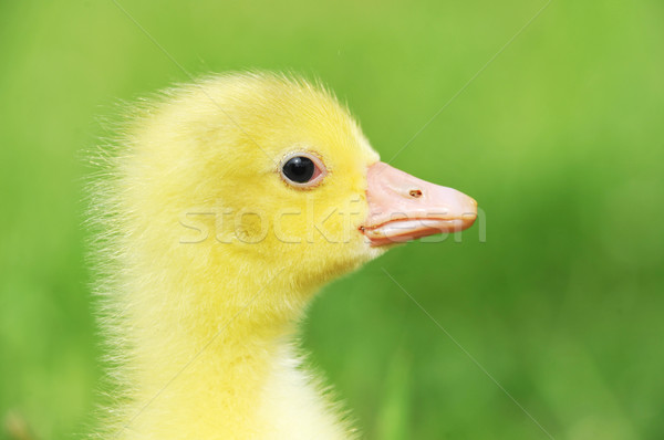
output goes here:
[[[392, 165], [484, 218], [333, 283], [303, 328], [367, 438], [547, 439], [489, 375], [556, 439], [664, 438], [662, 1], [552, 1], [476, 77], [544, 2], [121, 3], [194, 75], [321, 77], [383, 160], [456, 96]], [[1, 1], [0, 59], [0, 437], [69, 439], [102, 374], [81, 151], [188, 78], [110, 0]]]

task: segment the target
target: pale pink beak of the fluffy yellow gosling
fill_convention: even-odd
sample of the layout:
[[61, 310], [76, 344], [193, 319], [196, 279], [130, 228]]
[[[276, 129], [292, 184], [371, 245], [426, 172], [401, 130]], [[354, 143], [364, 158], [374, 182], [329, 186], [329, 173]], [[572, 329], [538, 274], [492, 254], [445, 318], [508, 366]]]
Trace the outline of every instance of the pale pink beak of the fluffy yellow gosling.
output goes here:
[[377, 247], [456, 232], [477, 218], [477, 202], [378, 161], [369, 167], [369, 216], [360, 230]]

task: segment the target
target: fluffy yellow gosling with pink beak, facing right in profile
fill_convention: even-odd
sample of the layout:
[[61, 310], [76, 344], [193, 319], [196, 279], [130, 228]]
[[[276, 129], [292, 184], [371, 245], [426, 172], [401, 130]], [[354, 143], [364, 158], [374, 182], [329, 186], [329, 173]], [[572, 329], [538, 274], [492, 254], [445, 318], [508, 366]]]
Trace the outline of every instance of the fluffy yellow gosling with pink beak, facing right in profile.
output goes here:
[[380, 161], [302, 80], [214, 76], [133, 112], [93, 217], [118, 385], [106, 439], [349, 439], [300, 367], [318, 289], [476, 203]]

